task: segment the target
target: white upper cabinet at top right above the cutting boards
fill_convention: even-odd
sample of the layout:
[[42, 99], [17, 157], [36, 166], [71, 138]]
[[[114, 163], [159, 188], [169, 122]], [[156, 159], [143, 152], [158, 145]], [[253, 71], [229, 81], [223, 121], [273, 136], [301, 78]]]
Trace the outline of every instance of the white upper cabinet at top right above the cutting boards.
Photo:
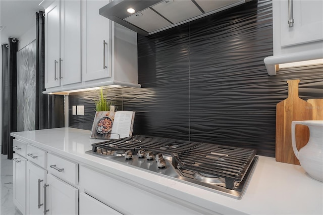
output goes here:
[[264, 59], [269, 75], [277, 64], [322, 59], [323, 1], [273, 1], [273, 39], [274, 56]]

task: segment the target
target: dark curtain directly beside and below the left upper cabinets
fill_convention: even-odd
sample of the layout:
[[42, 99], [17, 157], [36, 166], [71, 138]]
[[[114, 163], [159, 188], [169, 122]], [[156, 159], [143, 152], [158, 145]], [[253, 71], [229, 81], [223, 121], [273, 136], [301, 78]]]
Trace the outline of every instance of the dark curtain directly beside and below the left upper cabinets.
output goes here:
[[36, 118], [35, 129], [64, 127], [64, 95], [43, 94], [45, 90], [44, 12], [36, 13]]

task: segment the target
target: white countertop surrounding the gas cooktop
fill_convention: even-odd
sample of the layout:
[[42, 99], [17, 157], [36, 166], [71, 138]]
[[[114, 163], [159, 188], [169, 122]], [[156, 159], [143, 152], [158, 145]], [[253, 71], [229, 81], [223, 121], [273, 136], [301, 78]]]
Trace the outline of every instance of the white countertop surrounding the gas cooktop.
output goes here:
[[310, 178], [301, 166], [279, 163], [273, 157], [259, 156], [246, 192], [237, 200], [85, 154], [92, 149], [92, 143], [103, 141], [90, 139], [87, 130], [57, 128], [11, 135], [211, 211], [223, 214], [323, 214], [323, 183]]

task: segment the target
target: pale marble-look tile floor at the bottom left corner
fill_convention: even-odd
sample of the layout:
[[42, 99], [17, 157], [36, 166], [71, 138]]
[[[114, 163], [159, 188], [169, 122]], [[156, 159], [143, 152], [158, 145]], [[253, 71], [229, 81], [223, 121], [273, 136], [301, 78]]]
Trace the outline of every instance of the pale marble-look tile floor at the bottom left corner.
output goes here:
[[7, 155], [1, 154], [1, 215], [22, 215], [13, 203], [13, 161]]

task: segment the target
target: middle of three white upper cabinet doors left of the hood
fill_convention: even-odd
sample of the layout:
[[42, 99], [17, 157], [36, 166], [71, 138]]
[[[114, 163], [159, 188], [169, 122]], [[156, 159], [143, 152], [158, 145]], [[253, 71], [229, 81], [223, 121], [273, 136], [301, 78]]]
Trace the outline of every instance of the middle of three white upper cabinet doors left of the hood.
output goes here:
[[61, 66], [62, 85], [79, 83], [81, 76], [82, 2], [61, 2]]

